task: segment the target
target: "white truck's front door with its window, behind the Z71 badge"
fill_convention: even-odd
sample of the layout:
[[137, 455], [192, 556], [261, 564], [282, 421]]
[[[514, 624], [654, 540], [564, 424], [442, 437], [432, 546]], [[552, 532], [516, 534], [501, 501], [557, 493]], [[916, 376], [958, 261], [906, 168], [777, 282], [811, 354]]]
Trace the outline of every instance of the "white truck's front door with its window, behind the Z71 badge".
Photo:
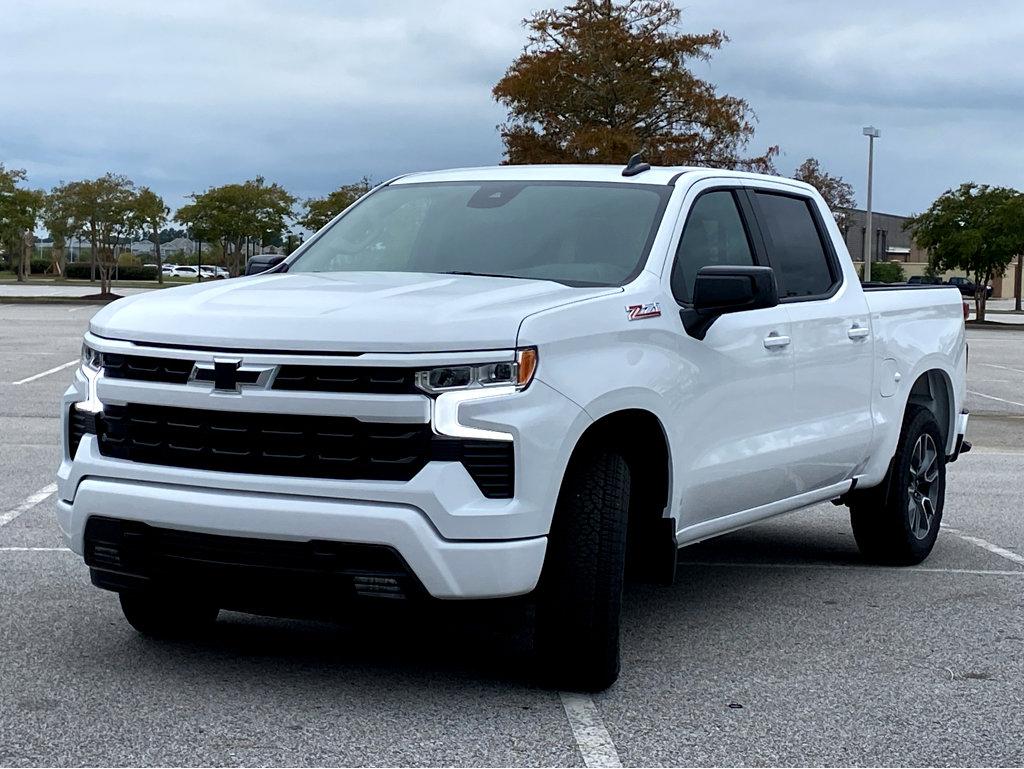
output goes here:
[[[696, 272], [764, 264], [740, 188], [697, 189], [676, 251], [672, 291], [686, 306]], [[679, 524], [690, 526], [796, 494], [785, 466], [793, 419], [788, 310], [779, 305], [719, 317], [703, 340], [680, 325]]]

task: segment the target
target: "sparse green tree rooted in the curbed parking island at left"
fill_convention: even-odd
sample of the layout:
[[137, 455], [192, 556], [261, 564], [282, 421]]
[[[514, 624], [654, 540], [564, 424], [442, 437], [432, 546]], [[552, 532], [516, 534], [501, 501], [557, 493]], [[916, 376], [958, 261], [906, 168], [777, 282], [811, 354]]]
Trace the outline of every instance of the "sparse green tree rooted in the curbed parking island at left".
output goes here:
[[67, 184], [76, 231], [89, 238], [93, 274], [99, 273], [99, 293], [111, 294], [111, 277], [119, 246], [137, 231], [135, 185], [120, 174]]

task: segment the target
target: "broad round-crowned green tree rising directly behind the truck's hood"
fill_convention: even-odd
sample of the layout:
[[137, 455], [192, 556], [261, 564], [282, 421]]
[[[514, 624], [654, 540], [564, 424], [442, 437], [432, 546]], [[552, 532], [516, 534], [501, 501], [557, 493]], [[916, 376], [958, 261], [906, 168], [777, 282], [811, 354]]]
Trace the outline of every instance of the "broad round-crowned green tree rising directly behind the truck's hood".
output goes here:
[[243, 271], [243, 246], [281, 238], [295, 206], [293, 196], [279, 184], [267, 184], [262, 176], [189, 197], [193, 202], [179, 208], [174, 218], [194, 237], [225, 247], [233, 257], [232, 274]]

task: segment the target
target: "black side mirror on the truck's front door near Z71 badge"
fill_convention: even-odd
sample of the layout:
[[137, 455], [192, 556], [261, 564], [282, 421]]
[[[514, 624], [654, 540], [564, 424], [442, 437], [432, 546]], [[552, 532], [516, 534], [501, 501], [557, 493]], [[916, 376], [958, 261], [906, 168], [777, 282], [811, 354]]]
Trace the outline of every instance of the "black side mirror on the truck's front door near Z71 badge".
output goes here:
[[701, 267], [693, 284], [693, 306], [679, 311], [686, 333], [703, 339], [720, 315], [778, 304], [771, 267], [715, 265]]

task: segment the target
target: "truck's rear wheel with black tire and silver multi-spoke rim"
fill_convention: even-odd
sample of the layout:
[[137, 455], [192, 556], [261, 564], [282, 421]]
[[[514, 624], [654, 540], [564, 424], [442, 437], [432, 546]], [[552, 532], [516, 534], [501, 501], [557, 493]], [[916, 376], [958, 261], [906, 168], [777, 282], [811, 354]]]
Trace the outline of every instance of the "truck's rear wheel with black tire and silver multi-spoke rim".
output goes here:
[[946, 456], [935, 417], [907, 407], [896, 456], [885, 480], [855, 493], [850, 522], [866, 558], [909, 566], [925, 560], [939, 535], [946, 492]]

